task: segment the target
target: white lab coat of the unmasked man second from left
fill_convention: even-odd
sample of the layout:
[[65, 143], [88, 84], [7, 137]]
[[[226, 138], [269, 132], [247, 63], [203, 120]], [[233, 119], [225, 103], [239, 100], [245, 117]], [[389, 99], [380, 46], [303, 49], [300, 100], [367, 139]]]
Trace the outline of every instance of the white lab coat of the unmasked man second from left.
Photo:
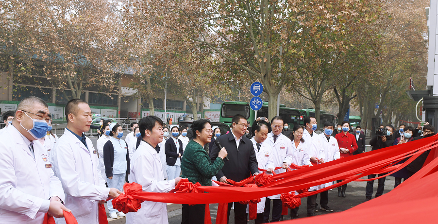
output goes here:
[[[51, 150], [53, 171], [62, 183], [66, 207], [76, 217], [78, 224], [98, 224], [98, 203], [106, 200], [109, 188], [105, 187], [99, 158], [93, 143], [85, 137], [85, 145], [67, 129]], [[65, 223], [56, 219], [56, 223]]]

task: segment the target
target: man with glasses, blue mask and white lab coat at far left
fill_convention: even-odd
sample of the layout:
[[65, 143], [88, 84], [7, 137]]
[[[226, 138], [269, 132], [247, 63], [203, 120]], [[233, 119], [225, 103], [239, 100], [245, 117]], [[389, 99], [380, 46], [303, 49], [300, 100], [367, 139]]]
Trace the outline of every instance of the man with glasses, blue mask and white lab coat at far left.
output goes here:
[[12, 125], [0, 136], [0, 223], [41, 224], [44, 214], [63, 217], [61, 182], [53, 175], [47, 150], [37, 140], [47, 133], [47, 103], [27, 97]]

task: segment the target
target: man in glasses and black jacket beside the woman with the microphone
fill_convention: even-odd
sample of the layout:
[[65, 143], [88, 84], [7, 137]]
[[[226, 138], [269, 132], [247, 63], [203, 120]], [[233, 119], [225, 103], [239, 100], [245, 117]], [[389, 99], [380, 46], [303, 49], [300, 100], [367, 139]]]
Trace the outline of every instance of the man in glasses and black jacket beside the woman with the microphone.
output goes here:
[[[218, 137], [221, 146], [227, 150], [229, 158], [229, 161], [226, 161], [223, 168], [216, 174], [216, 178], [220, 182], [228, 183], [227, 179], [238, 182], [250, 177], [250, 175], [258, 174], [258, 163], [253, 142], [244, 136], [247, 128], [247, 119], [243, 115], [237, 114], [232, 119], [232, 130], [228, 134]], [[213, 149], [210, 151], [212, 162], [216, 160], [220, 150], [217, 145], [213, 146]], [[248, 223], [246, 216], [247, 206], [238, 202], [228, 203], [228, 219], [230, 218], [230, 210], [233, 203], [235, 224]]]

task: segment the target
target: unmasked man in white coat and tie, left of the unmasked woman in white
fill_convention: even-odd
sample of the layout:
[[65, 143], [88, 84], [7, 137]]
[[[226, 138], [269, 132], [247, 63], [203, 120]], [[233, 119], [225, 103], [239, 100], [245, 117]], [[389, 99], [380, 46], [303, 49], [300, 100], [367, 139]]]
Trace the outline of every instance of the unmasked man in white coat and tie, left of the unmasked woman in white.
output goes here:
[[[258, 120], [258, 119], [257, 119]], [[292, 156], [293, 149], [292, 143], [289, 138], [285, 135], [281, 134], [283, 131], [284, 121], [280, 116], [275, 116], [271, 120], [271, 128], [272, 131], [268, 134], [268, 138], [266, 142], [269, 143], [272, 147], [272, 160], [274, 162], [273, 167], [282, 167], [283, 169], [279, 169], [274, 171], [275, 173], [283, 173], [286, 172], [287, 167], [292, 164]], [[273, 170], [273, 167], [270, 167], [270, 171]], [[270, 201], [272, 201], [272, 222], [280, 221], [281, 211], [282, 211], [282, 202], [280, 199], [280, 194], [269, 196], [266, 198], [265, 203], [265, 211], [264, 211], [264, 222], [268, 223], [269, 215], [270, 215]]]

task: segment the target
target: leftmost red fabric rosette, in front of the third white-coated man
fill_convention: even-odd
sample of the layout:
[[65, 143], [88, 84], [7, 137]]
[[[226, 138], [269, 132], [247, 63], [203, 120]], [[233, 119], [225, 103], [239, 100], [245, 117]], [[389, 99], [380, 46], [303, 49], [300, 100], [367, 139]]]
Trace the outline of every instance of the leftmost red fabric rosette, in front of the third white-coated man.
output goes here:
[[124, 194], [118, 195], [118, 197], [112, 201], [113, 207], [125, 214], [128, 212], [137, 212], [138, 209], [141, 208], [141, 203], [144, 202], [144, 200], [135, 199], [131, 194], [143, 191], [141, 185], [134, 182], [126, 183], [123, 186], [123, 191], [125, 192]]

